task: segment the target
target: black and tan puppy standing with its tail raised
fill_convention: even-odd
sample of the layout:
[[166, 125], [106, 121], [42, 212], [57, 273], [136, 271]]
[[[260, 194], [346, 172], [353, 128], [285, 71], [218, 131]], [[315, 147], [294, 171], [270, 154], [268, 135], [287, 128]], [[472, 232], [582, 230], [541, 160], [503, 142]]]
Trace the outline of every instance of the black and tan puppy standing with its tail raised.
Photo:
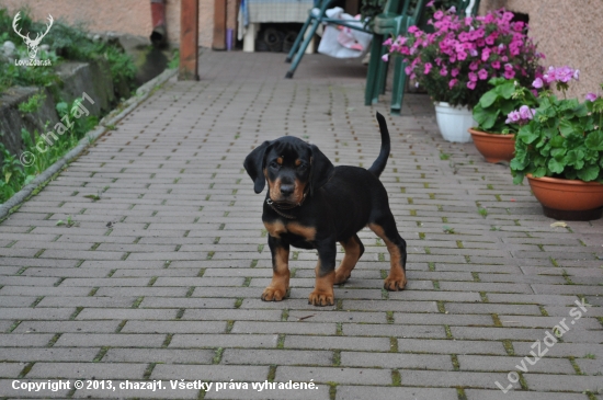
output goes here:
[[[389, 209], [387, 192], [379, 181], [389, 157], [389, 133], [377, 113], [382, 148], [373, 165], [333, 167], [316, 147], [291, 136], [264, 141], [244, 160], [244, 169], [261, 193], [268, 181], [262, 220], [272, 252], [272, 283], [262, 300], [280, 301], [289, 288], [289, 245], [316, 249], [316, 286], [309, 296], [315, 306], [334, 304], [333, 285], [350, 278], [364, 252], [356, 232], [371, 228], [387, 245], [391, 267], [385, 279], [387, 290], [403, 289], [406, 242], [398, 233]], [[335, 270], [337, 242], [345, 255]]]

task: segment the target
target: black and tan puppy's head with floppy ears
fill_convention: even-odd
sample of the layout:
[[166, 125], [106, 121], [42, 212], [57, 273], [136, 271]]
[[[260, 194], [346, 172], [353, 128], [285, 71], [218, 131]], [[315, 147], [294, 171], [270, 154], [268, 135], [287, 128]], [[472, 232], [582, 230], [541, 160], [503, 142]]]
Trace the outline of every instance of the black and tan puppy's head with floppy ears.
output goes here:
[[247, 156], [243, 162], [261, 193], [265, 182], [273, 202], [298, 204], [309, 190], [310, 195], [326, 184], [334, 167], [316, 147], [292, 136], [264, 141]]

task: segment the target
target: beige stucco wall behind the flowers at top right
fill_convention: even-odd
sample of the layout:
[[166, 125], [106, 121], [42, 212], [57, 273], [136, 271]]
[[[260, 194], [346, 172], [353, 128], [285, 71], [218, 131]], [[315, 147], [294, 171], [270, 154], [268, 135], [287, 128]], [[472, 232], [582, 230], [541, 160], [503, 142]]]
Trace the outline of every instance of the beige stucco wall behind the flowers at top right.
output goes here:
[[530, 16], [530, 36], [544, 53], [543, 66], [580, 70], [568, 95], [584, 99], [603, 82], [602, 0], [481, 0], [480, 14], [504, 7]]

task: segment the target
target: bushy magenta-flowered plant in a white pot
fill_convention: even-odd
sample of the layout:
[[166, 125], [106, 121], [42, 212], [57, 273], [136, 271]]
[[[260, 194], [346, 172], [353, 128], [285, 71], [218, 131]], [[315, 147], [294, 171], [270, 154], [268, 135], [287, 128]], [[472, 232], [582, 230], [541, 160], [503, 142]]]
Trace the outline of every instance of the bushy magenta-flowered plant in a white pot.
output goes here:
[[[422, 85], [435, 102], [440, 130], [451, 141], [469, 141], [474, 125], [470, 110], [496, 77], [516, 79], [528, 85], [542, 70], [542, 54], [527, 37], [523, 22], [498, 10], [483, 16], [460, 18], [453, 8], [436, 11], [428, 24], [433, 33], [410, 26], [406, 36], [385, 42], [389, 55], [401, 55], [406, 73]], [[458, 111], [463, 122], [445, 122], [443, 115]], [[448, 132], [447, 128], [453, 128]]]

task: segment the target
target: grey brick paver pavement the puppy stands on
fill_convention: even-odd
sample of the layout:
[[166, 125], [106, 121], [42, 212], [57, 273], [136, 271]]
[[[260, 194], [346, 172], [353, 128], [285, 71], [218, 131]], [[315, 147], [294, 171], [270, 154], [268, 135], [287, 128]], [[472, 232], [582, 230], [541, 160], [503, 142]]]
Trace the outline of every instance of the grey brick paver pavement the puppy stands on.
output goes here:
[[334, 307], [307, 305], [312, 251], [292, 251], [289, 299], [260, 300], [270, 250], [244, 156], [295, 135], [368, 165], [387, 111], [363, 105], [357, 61], [307, 56], [285, 80], [283, 59], [205, 52], [202, 81], [169, 81], [0, 225], [0, 398], [603, 399], [603, 221], [551, 227], [505, 167], [440, 138], [424, 95], [387, 116], [382, 175], [407, 289], [382, 289], [389, 255], [363, 230]]

